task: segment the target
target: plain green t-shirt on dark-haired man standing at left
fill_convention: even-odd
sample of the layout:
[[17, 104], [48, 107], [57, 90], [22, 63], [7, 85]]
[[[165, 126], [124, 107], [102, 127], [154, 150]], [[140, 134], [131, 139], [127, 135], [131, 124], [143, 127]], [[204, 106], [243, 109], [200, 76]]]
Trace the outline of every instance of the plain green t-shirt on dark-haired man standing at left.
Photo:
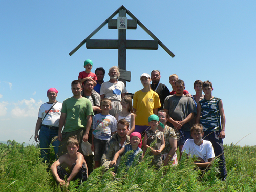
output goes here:
[[93, 114], [91, 101], [87, 98], [70, 97], [62, 104], [61, 113], [66, 113], [66, 123], [63, 132], [72, 132], [86, 128], [87, 115]]

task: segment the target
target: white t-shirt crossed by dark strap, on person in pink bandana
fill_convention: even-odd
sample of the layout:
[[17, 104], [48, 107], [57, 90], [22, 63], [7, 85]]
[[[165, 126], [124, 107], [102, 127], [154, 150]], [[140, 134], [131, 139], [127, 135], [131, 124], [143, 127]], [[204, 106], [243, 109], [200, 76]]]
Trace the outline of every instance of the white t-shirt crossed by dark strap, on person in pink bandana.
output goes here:
[[[40, 106], [39, 113], [38, 113], [38, 118], [44, 118], [48, 110], [51, 108], [51, 106], [54, 103], [48, 104], [44, 103]], [[61, 108], [62, 108], [62, 103], [57, 102], [51, 111], [47, 114], [45, 117], [44, 121], [42, 121], [42, 125], [48, 125], [48, 126], [59, 126], [59, 118], [61, 114]]]

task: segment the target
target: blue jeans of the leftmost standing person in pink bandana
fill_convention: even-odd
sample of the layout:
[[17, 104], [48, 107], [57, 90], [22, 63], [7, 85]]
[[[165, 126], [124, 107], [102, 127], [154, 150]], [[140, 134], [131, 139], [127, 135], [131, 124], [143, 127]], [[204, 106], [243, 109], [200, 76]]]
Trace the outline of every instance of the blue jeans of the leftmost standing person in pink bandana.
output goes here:
[[[39, 132], [39, 140], [40, 140], [40, 148], [41, 148], [41, 157], [43, 162], [49, 163], [50, 159], [50, 144], [52, 139], [58, 136], [58, 130], [51, 130], [44, 125], [41, 125], [41, 129]], [[55, 157], [57, 158], [58, 147], [60, 141], [57, 139], [52, 143]]]

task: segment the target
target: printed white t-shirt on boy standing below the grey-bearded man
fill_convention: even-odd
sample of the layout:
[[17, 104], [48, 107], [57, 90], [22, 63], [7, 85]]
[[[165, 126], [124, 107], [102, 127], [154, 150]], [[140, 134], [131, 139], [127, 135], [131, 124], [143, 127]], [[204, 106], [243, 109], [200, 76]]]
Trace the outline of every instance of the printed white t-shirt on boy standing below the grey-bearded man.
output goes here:
[[93, 135], [99, 140], [110, 140], [111, 132], [116, 131], [117, 120], [112, 115], [97, 114], [93, 116]]

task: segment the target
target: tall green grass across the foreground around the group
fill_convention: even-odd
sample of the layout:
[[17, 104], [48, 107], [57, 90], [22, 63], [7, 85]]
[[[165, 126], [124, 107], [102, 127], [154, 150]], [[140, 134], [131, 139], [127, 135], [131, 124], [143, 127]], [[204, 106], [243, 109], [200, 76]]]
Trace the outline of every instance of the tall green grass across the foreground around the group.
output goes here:
[[[150, 166], [152, 157], [146, 154], [142, 162], [135, 161], [126, 170], [126, 155], [115, 177], [112, 169], [104, 173], [100, 167], [81, 186], [71, 182], [69, 191], [256, 191], [256, 148], [231, 144], [224, 151], [226, 182], [217, 177], [218, 159], [206, 172], [196, 169], [193, 159], [185, 156], [176, 167], [155, 170]], [[38, 147], [0, 143], [0, 191], [61, 191], [47, 169]]]

